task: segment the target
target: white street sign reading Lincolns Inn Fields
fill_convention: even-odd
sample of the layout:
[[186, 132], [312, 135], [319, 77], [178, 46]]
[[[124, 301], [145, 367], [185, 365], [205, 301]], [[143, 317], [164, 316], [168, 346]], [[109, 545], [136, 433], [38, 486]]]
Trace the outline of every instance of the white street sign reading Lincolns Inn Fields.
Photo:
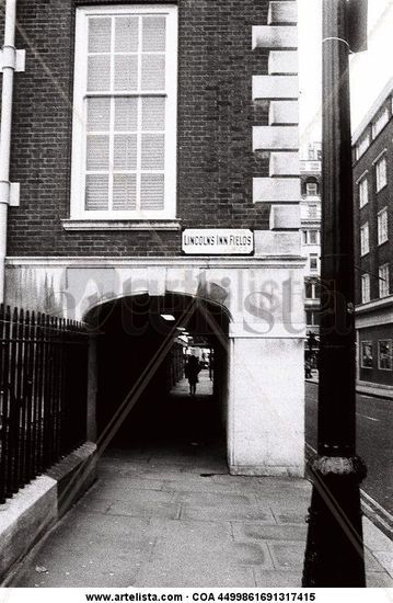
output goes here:
[[186, 228], [182, 250], [187, 255], [250, 255], [254, 234], [247, 228]]

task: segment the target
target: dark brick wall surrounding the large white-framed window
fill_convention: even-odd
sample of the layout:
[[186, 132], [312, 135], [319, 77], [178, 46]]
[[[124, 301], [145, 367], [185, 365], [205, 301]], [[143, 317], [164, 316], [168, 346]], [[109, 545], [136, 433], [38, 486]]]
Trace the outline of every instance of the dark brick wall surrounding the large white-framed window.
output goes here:
[[[66, 231], [69, 217], [73, 29], [71, 0], [20, 0], [11, 180], [21, 206], [9, 212], [8, 254], [172, 255], [181, 234]], [[97, 2], [96, 2], [97, 3]], [[111, 3], [107, 0], [104, 3]], [[139, 0], [138, 3], [143, 3]], [[267, 0], [180, 0], [177, 217], [184, 227], [268, 228], [268, 204], [253, 204], [253, 177], [268, 175], [253, 153], [252, 126], [268, 107], [252, 103], [252, 76], [267, 73], [268, 50], [252, 50], [252, 25]]]

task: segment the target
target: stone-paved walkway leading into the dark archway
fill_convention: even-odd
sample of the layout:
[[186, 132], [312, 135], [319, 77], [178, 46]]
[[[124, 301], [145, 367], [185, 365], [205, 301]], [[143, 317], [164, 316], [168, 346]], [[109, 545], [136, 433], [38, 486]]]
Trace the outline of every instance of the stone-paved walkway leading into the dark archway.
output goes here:
[[[177, 402], [204, 402], [185, 392]], [[96, 483], [9, 585], [300, 587], [310, 483], [230, 476], [209, 433], [108, 451]], [[368, 585], [393, 587], [381, 565], [391, 543], [368, 520], [365, 530]]]

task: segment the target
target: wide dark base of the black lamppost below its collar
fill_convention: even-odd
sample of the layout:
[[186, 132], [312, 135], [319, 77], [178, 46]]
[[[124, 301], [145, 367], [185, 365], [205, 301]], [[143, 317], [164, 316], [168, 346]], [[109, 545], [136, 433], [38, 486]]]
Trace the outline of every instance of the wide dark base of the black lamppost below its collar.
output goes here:
[[359, 485], [366, 465], [358, 456], [320, 456], [313, 480], [302, 585], [366, 587]]

